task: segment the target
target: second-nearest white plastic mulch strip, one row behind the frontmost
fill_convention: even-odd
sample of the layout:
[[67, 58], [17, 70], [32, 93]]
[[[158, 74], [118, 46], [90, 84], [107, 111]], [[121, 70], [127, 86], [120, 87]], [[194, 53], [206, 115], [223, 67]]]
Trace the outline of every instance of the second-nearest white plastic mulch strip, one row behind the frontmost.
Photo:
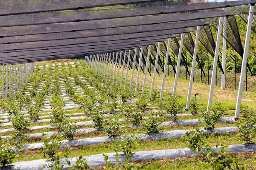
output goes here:
[[[234, 133], [238, 129], [237, 127], [219, 127], [213, 130], [208, 130], [206, 133], [213, 133], [217, 131], [217, 133]], [[146, 140], [146, 139], [170, 139], [170, 138], [179, 138], [180, 136], [185, 135], [185, 133], [189, 130], [173, 130], [168, 132], [160, 132], [160, 133], [150, 133], [150, 134], [140, 134], [137, 135], [138, 140]], [[129, 135], [128, 137], [131, 137]], [[85, 139], [74, 139], [74, 140], [64, 140], [61, 141], [61, 147], [65, 147], [66, 145], [70, 146], [81, 146], [81, 145], [92, 145], [92, 144], [101, 144], [105, 142], [111, 142], [112, 139], [124, 139], [124, 136], [115, 136], [115, 137], [94, 137], [94, 138], [85, 138]], [[21, 150], [33, 150], [44, 147], [44, 143], [33, 143], [33, 144], [25, 144], [22, 146]]]

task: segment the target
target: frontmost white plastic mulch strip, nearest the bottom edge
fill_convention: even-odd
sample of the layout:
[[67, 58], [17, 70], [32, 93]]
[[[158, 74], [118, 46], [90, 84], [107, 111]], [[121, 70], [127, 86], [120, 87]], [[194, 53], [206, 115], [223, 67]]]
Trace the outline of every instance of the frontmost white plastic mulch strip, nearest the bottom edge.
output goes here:
[[[218, 152], [220, 149], [216, 147], [214, 148], [215, 152]], [[229, 152], [249, 152], [249, 151], [256, 151], [256, 144], [236, 144], [236, 145], [229, 145]], [[111, 161], [112, 164], [122, 163], [124, 162], [124, 159], [126, 158], [126, 155], [119, 153], [119, 162], [116, 161], [116, 153], [107, 153], [108, 160]], [[151, 150], [151, 151], [140, 151], [140, 152], [134, 152], [132, 154], [131, 161], [137, 161], [137, 160], [152, 160], [152, 159], [163, 159], [163, 158], [180, 158], [180, 157], [186, 157], [186, 156], [193, 156], [196, 155], [192, 150], [189, 148], [180, 148], [180, 149], [168, 149], [168, 150]], [[92, 155], [92, 156], [84, 156], [84, 158], [87, 159], [87, 164], [90, 167], [96, 167], [105, 165], [104, 156], [103, 154], [98, 155]], [[73, 164], [76, 164], [77, 158], [70, 159], [71, 166]], [[65, 165], [64, 168], [70, 168], [70, 166], [67, 165], [66, 161], [64, 159], [61, 159], [63, 164]], [[13, 164], [13, 166], [10, 166], [8, 170], [41, 170], [42, 167], [49, 164], [47, 159], [39, 159], [39, 160], [33, 160], [33, 161], [21, 161], [16, 162]], [[0, 168], [1, 169], [1, 168]]]

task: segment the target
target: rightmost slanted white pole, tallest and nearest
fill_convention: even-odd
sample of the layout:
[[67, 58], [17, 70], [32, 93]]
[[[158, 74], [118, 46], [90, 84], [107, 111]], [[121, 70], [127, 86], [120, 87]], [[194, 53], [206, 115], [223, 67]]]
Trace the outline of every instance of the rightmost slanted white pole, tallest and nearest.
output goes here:
[[250, 35], [252, 31], [254, 5], [255, 5], [254, 3], [251, 4], [250, 11], [249, 11], [247, 32], [246, 32], [245, 45], [244, 45], [244, 56], [243, 56], [242, 68], [241, 68], [241, 77], [240, 77], [238, 95], [237, 95], [237, 101], [236, 101], [236, 113], [235, 113], [236, 119], [239, 118], [239, 112], [241, 107], [240, 105], [241, 105], [243, 87], [244, 87], [244, 76], [245, 76], [245, 71], [247, 66], [247, 57], [248, 57], [248, 51], [249, 51], [249, 45], [250, 45]]

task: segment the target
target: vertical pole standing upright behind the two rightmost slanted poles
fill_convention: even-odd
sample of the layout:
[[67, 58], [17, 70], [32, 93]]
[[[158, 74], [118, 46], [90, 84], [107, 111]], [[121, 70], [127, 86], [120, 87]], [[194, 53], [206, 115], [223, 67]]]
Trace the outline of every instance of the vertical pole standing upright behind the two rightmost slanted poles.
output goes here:
[[[224, 11], [227, 11], [226, 8], [223, 8]], [[223, 20], [223, 47], [222, 47], [222, 69], [224, 74], [221, 74], [221, 90], [225, 90], [226, 87], [226, 45], [227, 41], [224, 37], [226, 37], [227, 30], [227, 17], [224, 17]]]

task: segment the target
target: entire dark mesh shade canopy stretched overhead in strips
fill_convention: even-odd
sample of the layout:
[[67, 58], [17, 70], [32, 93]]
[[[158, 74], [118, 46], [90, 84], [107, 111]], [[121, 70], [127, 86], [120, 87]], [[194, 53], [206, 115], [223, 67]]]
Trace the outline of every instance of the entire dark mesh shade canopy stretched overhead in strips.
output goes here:
[[184, 4], [187, 2], [189, 0], [181, 4], [169, 0], [1, 1], [0, 63], [35, 62], [144, 47], [211, 22], [202, 19], [230, 16], [220, 8], [247, 5], [256, 0]]

